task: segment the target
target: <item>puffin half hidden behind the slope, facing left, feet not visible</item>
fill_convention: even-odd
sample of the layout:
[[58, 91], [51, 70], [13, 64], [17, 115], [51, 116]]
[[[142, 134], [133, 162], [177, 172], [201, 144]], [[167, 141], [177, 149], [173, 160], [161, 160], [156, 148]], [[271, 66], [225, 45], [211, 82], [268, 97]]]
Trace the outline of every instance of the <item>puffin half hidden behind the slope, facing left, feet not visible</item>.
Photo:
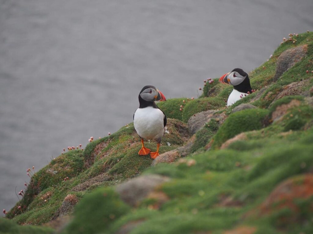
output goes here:
[[233, 71], [224, 74], [219, 78], [219, 82], [222, 84], [233, 85], [234, 87], [228, 97], [227, 106], [233, 105], [242, 97], [254, 92], [251, 88], [248, 74], [240, 68], [235, 68]]

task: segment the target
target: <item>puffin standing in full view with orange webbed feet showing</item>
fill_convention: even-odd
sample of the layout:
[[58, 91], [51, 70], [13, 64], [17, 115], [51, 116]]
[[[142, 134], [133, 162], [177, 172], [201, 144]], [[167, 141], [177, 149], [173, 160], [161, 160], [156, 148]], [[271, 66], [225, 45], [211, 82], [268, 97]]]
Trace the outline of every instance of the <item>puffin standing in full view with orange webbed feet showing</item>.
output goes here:
[[[166, 101], [166, 98], [155, 86], [146, 85], [140, 91], [138, 99], [139, 108], [133, 115], [134, 127], [141, 139], [141, 149], [138, 154], [150, 154], [150, 157], [155, 159], [159, 156], [159, 147], [167, 119], [164, 112], [158, 108], [154, 101]], [[156, 141], [156, 152], [151, 152], [150, 149], [144, 146], [144, 139]]]

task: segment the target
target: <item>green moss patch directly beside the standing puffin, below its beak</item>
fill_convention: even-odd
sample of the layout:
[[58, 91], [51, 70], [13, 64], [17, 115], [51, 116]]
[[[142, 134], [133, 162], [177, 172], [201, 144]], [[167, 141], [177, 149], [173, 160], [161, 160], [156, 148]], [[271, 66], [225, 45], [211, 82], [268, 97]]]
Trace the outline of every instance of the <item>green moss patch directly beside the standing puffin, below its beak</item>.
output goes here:
[[[185, 100], [185, 103], [183, 103]], [[166, 102], [158, 102], [157, 106], [164, 112], [167, 118], [182, 120], [182, 111], [180, 111], [180, 106], [185, 106], [189, 101], [187, 98], [172, 98]]]

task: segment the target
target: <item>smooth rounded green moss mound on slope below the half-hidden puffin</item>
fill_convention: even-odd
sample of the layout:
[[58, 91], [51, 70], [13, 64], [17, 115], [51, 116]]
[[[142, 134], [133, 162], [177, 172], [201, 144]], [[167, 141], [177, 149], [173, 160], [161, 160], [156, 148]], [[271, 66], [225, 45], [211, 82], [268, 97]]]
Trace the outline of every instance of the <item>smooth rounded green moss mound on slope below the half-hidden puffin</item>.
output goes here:
[[[229, 115], [214, 136], [212, 148], [218, 148], [235, 135], [264, 127], [268, 110], [247, 109]], [[240, 126], [240, 127], [239, 127]]]

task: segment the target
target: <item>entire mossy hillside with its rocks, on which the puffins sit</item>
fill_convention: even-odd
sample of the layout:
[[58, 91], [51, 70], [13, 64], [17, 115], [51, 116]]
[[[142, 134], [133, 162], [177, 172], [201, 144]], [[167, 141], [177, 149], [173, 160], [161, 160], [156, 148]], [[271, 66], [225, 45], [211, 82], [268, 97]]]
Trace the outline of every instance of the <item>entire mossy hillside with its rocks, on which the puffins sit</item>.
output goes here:
[[[276, 74], [280, 55], [289, 49], [292, 55], [299, 46], [305, 48], [301, 58]], [[71, 221], [57, 233], [312, 233], [312, 70], [313, 32], [290, 35], [249, 73], [256, 91], [234, 105], [225, 106], [232, 87], [216, 79], [205, 82], [198, 99], [158, 103], [168, 117], [161, 153], [188, 142], [186, 123], [193, 115], [214, 110], [194, 130], [187, 157], [175, 151], [175, 162], [151, 167], [150, 157], [137, 155], [141, 143], [128, 124], [84, 151], [60, 155], [33, 175], [23, 199], [6, 216], [13, 221], [0, 227], [12, 226], [7, 233], [21, 228], [49, 233], [35, 225], [54, 219], [66, 197], [74, 197], [74, 213], [67, 213]], [[256, 108], [232, 113], [243, 103]], [[156, 144], [146, 147], [155, 150]], [[141, 177], [146, 183], [151, 178], [151, 184], [153, 178], [166, 179], [130, 204], [125, 194], [141, 187], [121, 194], [117, 185]]]

